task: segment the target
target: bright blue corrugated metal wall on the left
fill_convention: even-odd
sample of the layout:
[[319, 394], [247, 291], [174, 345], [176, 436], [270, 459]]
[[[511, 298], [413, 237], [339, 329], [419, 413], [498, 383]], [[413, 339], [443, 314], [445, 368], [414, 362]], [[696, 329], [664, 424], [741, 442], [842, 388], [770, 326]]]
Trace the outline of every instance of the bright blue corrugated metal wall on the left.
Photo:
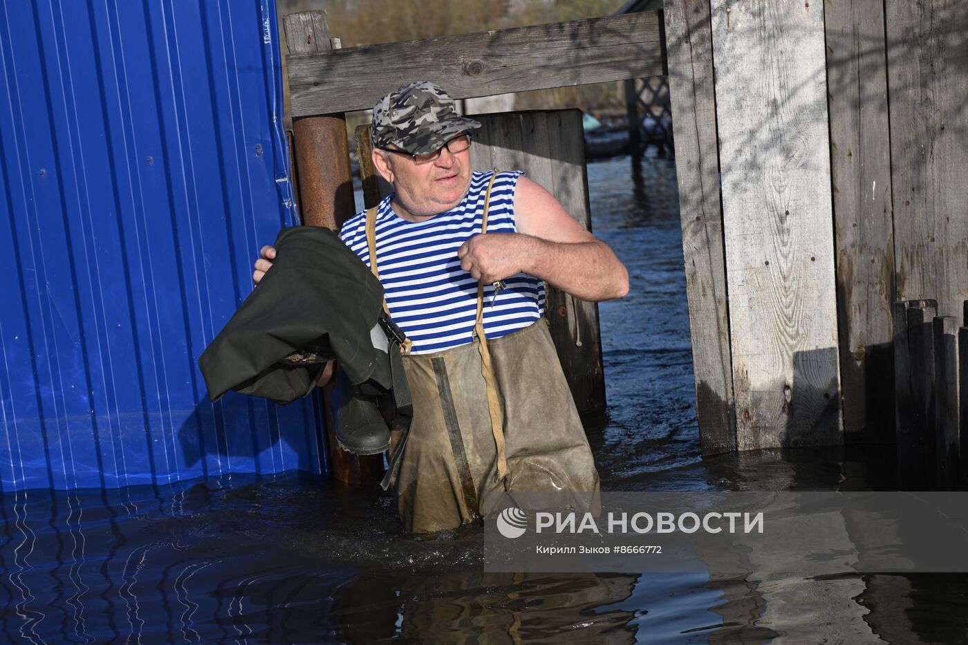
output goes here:
[[295, 224], [271, 0], [0, 9], [5, 490], [324, 470], [315, 396], [197, 357]]

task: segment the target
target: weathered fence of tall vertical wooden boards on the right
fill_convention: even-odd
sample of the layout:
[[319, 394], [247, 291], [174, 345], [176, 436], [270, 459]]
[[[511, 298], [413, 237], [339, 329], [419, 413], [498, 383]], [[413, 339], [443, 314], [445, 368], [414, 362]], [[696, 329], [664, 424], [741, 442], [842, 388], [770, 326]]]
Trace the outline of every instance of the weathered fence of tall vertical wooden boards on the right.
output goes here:
[[[935, 298], [900, 305], [933, 333], [968, 297], [968, 18], [951, 0], [667, 0], [665, 17], [704, 452], [893, 442], [893, 303]], [[933, 368], [912, 329], [907, 359]], [[899, 386], [897, 410], [950, 401], [955, 364], [916, 404], [924, 385]], [[908, 416], [896, 434], [924, 468], [942, 449], [951, 483], [964, 421], [946, 406], [942, 448]]]

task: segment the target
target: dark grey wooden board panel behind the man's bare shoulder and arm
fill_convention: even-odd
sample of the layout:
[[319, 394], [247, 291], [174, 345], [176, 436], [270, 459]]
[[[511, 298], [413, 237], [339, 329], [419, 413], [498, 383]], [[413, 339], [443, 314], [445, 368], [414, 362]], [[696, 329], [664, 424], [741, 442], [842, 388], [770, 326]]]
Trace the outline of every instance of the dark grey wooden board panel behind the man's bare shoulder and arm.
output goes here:
[[[474, 114], [481, 128], [470, 146], [473, 169], [519, 169], [591, 230], [582, 113], [578, 109]], [[359, 134], [359, 131], [357, 131]], [[366, 134], [369, 137], [369, 134]], [[360, 165], [361, 173], [373, 172]], [[366, 179], [364, 178], [364, 182]], [[380, 189], [380, 197], [387, 195]], [[605, 408], [598, 305], [546, 286], [546, 315], [579, 412]]]

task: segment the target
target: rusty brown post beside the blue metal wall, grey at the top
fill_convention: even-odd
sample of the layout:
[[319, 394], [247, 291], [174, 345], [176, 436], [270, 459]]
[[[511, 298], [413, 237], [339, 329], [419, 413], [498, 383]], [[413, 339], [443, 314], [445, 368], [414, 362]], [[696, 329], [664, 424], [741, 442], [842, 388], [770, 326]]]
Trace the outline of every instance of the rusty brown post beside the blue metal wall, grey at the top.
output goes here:
[[[334, 48], [325, 12], [287, 15], [284, 26], [290, 54]], [[339, 230], [355, 211], [346, 117], [343, 113], [294, 116], [292, 130], [302, 223]], [[375, 484], [383, 475], [382, 455], [354, 455], [337, 445], [331, 390], [332, 385], [323, 390], [330, 475], [346, 483]]]

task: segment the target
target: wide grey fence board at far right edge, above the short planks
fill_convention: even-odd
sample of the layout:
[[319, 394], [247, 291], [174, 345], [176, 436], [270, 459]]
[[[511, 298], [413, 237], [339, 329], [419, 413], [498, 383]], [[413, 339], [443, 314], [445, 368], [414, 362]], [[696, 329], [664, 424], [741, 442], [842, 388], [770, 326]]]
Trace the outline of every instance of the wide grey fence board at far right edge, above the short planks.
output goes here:
[[894, 258], [898, 299], [968, 298], [968, 12], [959, 0], [889, 0]]

